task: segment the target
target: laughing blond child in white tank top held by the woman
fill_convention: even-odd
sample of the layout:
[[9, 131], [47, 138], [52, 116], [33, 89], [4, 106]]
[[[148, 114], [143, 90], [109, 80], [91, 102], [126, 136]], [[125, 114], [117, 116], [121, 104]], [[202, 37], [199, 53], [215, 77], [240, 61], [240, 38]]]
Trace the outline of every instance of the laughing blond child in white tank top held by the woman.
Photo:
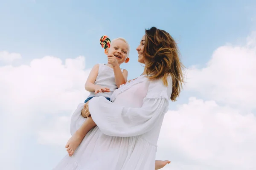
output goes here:
[[[110, 100], [113, 91], [119, 88], [120, 85], [127, 82], [128, 71], [121, 69], [120, 65], [129, 61], [130, 46], [123, 38], [112, 40], [110, 48], [105, 49], [105, 54], [108, 56], [108, 64], [94, 65], [85, 83], [85, 89], [90, 92], [88, 98], [84, 101], [88, 102], [95, 96], [104, 96]], [[70, 156], [73, 155], [76, 148], [84, 138], [83, 125], [74, 133], [66, 144], [67, 152]], [[82, 132], [82, 133], [81, 133]], [[156, 161], [155, 169], [163, 168], [170, 161]]]

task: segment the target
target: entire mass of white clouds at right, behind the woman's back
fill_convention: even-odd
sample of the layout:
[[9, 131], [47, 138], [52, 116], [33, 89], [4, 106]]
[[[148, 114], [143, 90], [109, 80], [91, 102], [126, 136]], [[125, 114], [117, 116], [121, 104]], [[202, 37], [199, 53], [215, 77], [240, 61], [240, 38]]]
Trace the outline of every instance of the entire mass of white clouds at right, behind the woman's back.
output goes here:
[[[256, 163], [256, 33], [241, 46], [217, 48], [204, 68], [187, 71], [188, 104], [169, 111], [158, 156], [172, 170], [254, 170]], [[177, 157], [177, 158], [176, 158]]]

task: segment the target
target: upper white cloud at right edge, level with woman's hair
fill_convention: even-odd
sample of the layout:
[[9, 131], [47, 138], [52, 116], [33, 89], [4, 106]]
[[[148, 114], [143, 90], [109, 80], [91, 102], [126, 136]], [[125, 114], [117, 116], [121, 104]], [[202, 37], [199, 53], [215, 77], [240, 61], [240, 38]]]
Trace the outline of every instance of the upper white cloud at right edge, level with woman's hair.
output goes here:
[[256, 108], [256, 34], [247, 45], [217, 48], [205, 68], [187, 71], [187, 90], [225, 104]]

